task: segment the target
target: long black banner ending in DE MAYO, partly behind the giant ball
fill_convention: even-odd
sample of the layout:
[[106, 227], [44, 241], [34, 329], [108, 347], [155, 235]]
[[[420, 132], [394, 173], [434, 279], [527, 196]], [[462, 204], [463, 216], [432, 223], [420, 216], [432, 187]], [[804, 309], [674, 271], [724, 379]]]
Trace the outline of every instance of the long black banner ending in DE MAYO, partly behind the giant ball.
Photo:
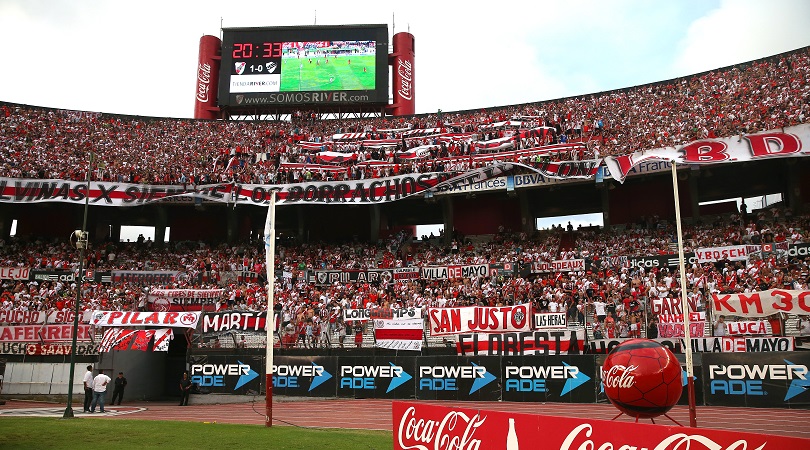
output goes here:
[[[629, 339], [595, 339], [588, 342], [588, 353], [610, 353]], [[686, 341], [678, 338], [656, 338], [654, 341], [673, 353], [684, 353]], [[793, 336], [769, 337], [703, 337], [692, 338], [692, 351], [697, 353], [792, 352]]]

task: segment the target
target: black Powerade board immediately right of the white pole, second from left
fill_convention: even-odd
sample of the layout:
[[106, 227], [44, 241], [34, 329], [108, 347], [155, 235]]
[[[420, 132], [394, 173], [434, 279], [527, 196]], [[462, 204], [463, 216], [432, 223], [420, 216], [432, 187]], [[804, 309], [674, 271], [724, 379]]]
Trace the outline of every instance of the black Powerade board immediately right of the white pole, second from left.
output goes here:
[[277, 356], [273, 359], [273, 393], [334, 397], [337, 362], [334, 356]]

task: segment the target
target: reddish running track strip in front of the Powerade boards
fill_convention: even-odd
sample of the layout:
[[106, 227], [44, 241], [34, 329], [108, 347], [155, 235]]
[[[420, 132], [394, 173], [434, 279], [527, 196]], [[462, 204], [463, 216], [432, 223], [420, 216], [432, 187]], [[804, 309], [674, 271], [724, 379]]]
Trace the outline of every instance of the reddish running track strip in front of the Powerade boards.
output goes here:
[[[131, 412], [124, 415], [95, 414], [89, 417], [108, 420], [178, 420], [192, 422], [218, 422], [264, 425], [264, 399], [255, 404], [214, 404], [177, 406], [167, 402], [139, 402], [124, 406], [108, 406], [114, 412]], [[193, 400], [192, 400], [193, 401]], [[274, 426], [300, 426], [317, 428], [359, 428], [391, 430], [392, 400], [356, 399], [298, 399], [273, 403]], [[448, 402], [427, 403], [447, 405]], [[455, 402], [459, 407], [480, 408], [492, 411], [510, 411], [530, 414], [546, 414], [592, 419], [612, 419], [617, 410], [610, 405], [571, 403], [510, 403], [510, 402]], [[9, 409], [48, 408], [64, 410], [64, 404], [8, 401], [0, 406], [0, 412]], [[79, 405], [81, 408], [81, 405]], [[141, 408], [143, 408], [141, 410]], [[61, 417], [61, 413], [58, 414]], [[689, 412], [685, 406], [676, 406], [670, 416], [682, 425], [689, 424]], [[0, 415], [0, 417], [2, 417]], [[0, 419], [2, 420], [2, 419]], [[617, 419], [633, 421], [626, 416]], [[661, 417], [658, 423], [668, 423]], [[810, 439], [810, 411], [798, 409], [764, 408], [697, 408], [699, 427], [716, 428], [751, 433], [778, 434]]]

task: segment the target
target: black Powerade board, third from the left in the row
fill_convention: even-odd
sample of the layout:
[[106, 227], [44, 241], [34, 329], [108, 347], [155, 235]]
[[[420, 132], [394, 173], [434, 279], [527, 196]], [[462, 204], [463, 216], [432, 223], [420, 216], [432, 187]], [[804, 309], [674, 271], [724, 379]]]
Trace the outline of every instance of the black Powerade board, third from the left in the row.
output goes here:
[[335, 375], [337, 396], [411, 398], [416, 361], [414, 356], [341, 356]]

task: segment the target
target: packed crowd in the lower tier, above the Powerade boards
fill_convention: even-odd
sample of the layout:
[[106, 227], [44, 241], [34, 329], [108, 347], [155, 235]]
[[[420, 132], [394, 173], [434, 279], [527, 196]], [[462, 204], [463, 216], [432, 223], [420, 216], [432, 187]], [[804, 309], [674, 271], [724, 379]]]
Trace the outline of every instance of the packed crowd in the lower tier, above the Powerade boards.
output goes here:
[[[685, 251], [744, 243], [807, 242], [810, 216], [793, 216], [773, 208], [717, 218], [685, 226]], [[572, 248], [561, 236], [572, 233]], [[616, 264], [617, 256], [673, 253], [675, 229], [656, 218], [624, 230], [545, 230], [529, 236], [503, 232], [474, 243], [452, 236], [447, 243], [414, 241], [399, 233], [377, 244], [282, 244], [277, 247], [275, 309], [284, 325], [294, 329], [353, 334], [343, 323], [341, 311], [364, 307], [446, 307], [508, 305], [532, 302], [538, 311], [566, 312], [572, 322], [588, 323], [605, 337], [638, 335], [655, 319], [649, 313], [653, 299], [679, 298], [677, 269], [644, 269]], [[81, 283], [82, 308], [146, 310], [149, 288], [224, 288], [213, 309], [264, 311], [267, 308], [262, 243], [228, 246], [182, 242], [158, 248], [150, 242], [94, 246], [85, 267], [96, 271], [169, 270], [175, 281], [163, 286], [135, 283]], [[76, 250], [67, 244], [18, 242], [0, 247], [0, 266], [32, 269], [75, 270]], [[539, 261], [583, 258], [587, 271], [532, 273]], [[498, 264], [512, 262], [519, 268], [513, 277], [475, 277], [455, 280], [383, 280], [378, 284], [334, 283], [319, 285], [315, 270], [374, 269], [407, 266]], [[253, 274], [252, 278], [246, 274]], [[753, 292], [771, 288], [808, 290], [810, 257], [773, 253], [747, 261], [691, 264], [686, 280], [690, 299], [710, 312], [710, 294]], [[60, 310], [74, 308], [75, 283], [5, 280], [0, 297], [3, 309]], [[606, 314], [609, 313], [609, 314]], [[607, 319], [605, 316], [610, 316]], [[298, 327], [298, 328], [295, 328]], [[300, 330], [299, 330], [300, 331]], [[362, 330], [361, 330], [362, 331]], [[810, 330], [807, 330], [810, 332]], [[293, 333], [295, 334], [295, 333]], [[310, 342], [309, 340], [307, 342]], [[314, 342], [314, 341], [312, 341]]]

